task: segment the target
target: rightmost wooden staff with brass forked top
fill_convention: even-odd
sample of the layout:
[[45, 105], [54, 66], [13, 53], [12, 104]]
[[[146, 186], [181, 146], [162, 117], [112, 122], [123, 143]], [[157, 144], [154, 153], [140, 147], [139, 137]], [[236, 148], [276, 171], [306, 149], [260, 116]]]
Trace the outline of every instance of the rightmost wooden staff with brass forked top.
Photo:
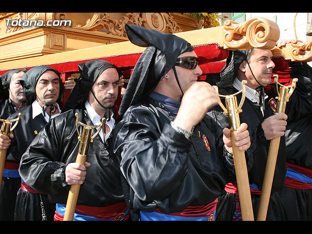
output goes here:
[[[292, 85], [284, 86], [277, 82], [278, 76], [274, 75], [274, 87], [278, 94], [277, 106], [275, 113], [285, 113], [286, 103], [291, 97], [296, 86], [297, 78], [292, 79]], [[281, 87], [278, 88], [278, 85]], [[257, 214], [257, 221], [265, 221], [267, 218], [268, 206], [271, 196], [273, 177], [275, 172], [276, 159], [278, 154], [279, 142], [281, 137], [275, 137], [270, 141], [270, 148], [265, 168], [262, 191], [260, 196], [259, 209]]]

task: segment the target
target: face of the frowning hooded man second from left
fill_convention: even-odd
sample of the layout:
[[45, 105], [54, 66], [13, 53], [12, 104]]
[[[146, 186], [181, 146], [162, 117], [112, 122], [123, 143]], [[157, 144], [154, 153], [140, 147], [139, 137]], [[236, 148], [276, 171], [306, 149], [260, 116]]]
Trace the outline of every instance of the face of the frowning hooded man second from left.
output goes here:
[[36, 85], [37, 101], [41, 106], [55, 104], [59, 98], [59, 76], [51, 70], [44, 72]]

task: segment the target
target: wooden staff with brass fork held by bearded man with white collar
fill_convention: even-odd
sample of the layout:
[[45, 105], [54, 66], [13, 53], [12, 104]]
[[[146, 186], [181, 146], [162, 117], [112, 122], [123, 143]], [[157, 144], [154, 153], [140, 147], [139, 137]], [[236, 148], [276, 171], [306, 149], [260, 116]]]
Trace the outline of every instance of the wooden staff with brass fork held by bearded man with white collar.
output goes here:
[[[94, 137], [96, 137], [99, 131], [102, 130], [102, 125], [105, 122], [106, 118], [104, 117], [102, 118], [100, 125], [90, 126], [90, 125], [86, 125], [78, 121], [78, 118], [79, 118], [78, 113], [76, 113], [75, 116], [76, 116], [76, 128], [78, 132], [78, 139], [80, 140], [76, 162], [82, 165], [85, 165], [86, 159], [87, 159], [87, 153], [89, 149], [89, 144], [90, 142], [93, 142]], [[78, 131], [78, 123], [83, 126], [81, 136]], [[92, 136], [92, 130], [97, 127], [98, 127], [98, 131], [96, 132], [94, 136]], [[63, 219], [64, 221], [72, 221], [74, 218], [78, 195], [80, 191], [80, 186], [81, 186], [80, 184], [72, 184], [70, 186], [67, 203], [66, 203], [65, 215]]]

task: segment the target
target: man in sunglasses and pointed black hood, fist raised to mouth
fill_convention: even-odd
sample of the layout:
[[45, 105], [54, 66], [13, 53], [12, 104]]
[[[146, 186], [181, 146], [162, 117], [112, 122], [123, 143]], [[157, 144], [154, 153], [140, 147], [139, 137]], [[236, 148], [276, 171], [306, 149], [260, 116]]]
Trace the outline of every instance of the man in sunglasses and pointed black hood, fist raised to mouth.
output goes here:
[[[124, 195], [135, 220], [215, 220], [217, 197], [233, 167], [230, 130], [206, 115], [219, 98], [202, 73], [194, 48], [182, 38], [126, 25], [130, 41], [148, 47], [120, 105], [115, 152]], [[239, 150], [250, 145], [246, 124]], [[223, 136], [223, 140], [222, 140]]]

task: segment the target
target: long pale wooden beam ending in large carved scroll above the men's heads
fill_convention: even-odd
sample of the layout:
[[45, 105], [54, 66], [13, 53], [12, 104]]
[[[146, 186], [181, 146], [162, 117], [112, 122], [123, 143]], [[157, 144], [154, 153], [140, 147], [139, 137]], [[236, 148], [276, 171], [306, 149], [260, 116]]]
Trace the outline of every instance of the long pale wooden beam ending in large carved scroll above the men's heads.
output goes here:
[[[243, 23], [227, 20], [225, 26], [179, 32], [176, 33], [176, 35], [186, 39], [195, 47], [217, 44], [218, 47], [227, 50], [245, 50], [252, 47], [272, 49], [279, 38], [279, 28], [275, 22], [258, 17]], [[3, 61], [0, 63], [0, 75], [3, 74], [5, 70], [13, 68], [139, 54], [144, 50], [144, 47], [134, 45], [130, 41], [124, 41], [57, 54], [17, 59], [14, 61]], [[208, 50], [205, 53], [203, 53], [202, 58], [209, 57], [211, 54]], [[210, 60], [213, 59], [214, 58]], [[226, 58], [216, 58], [215, 61], [218, 61], [218, 59], [223, 60]]]

